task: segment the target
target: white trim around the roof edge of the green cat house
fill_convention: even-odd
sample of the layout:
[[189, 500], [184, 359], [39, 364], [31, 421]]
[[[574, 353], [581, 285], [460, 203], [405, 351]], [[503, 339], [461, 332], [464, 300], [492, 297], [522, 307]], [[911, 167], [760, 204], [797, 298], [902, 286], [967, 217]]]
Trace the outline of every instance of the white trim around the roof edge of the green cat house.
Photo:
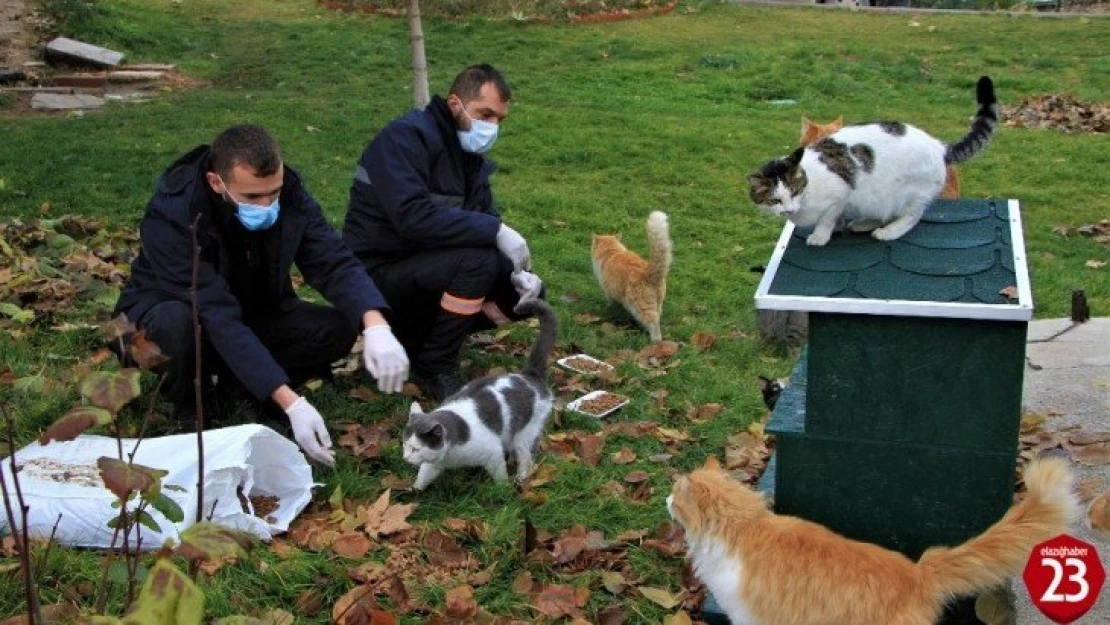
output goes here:
[[794, 223], [786, 222], [783, 233], [775, 244], [770, 264], [764, 272], [756, 289], [756, 309], [805, 312], [833, 312], [849, 314], [881, 314], [895, 316], [932, 316], [947, 319], [987, 319], [999, 321], [1029, 321], [1033, 316], [1032, 290], [1029, 268], [1026, 261], [1025, 232], [1021, 228], [1021, 210], [1017, 200], [1007, 202], [1010, 218], [1010, 244], [1013, 249], [1013, 273], [1017, 278], [1017, 304], [982, 304], [966, 302], [930, 302], [911, 300], [866, 300], [860, 298], [825, 298], [811, 295], [773, 295], [770, 285], [775, 281], [783, 255], [794, 234]]

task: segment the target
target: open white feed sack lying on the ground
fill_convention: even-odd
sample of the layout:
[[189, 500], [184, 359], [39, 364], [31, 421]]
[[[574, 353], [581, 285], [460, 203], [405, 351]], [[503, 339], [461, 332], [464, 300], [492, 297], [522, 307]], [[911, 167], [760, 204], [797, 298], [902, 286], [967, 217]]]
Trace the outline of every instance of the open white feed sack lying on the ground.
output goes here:
[[[134, 440], [124, 438], [124, 460], [134, 445]], [[115, 438], [83, 435], [64, 443], [40, 445], [36, 442], [16, 452], [23, 501], [30, 508], [28, 528], [32, 537], [49, 537], [60, 514], [54, 536], [58, 543], [82, 547], [111, 544], [112, 530], [108, 521], [119, 515], [119, 508], [112, 507], [115, 495], [100, 480], [97, 458], [101, 456], [118, 457]], [[163, 488], [163, 493], [184, 511], [184, 521], [170, 523], [158, 511], [148, 508], [162, 531], [139, 526], [142, 548], [158, 548], [167, 538], [176, 542], [196, 517], [196, 434], [144, 438], [134, 462], [169, 471], [162, 484], [184, 488]], [[7, 483], [19, 524], [9, 458], [0, 464], [0, 476]], [[301, 450], [263, 425], [205, 432], [204, 473], [203, 516], [211, 515], [220, 525], [250, 532], [263, 541], [289, 530], [290, 523], [312, 500], [312, 468]], [[278, 508], [266, 518], [252, 514], [250, 497], [260, 495], [279, 500]], [[134, 501], [129, 505], [133, 506]], [[8, 533], [7, 525], [7, 518], [0, 514], [0, 535]]]

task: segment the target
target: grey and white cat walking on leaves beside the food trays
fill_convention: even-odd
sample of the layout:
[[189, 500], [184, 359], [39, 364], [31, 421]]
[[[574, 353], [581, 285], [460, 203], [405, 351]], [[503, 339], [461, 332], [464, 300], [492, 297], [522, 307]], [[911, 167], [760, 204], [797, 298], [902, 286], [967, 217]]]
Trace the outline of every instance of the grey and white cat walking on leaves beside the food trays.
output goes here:
[[413, 488], [427, 487], [445, 468], [482, 466], [498, 482], [508, 480], [506, 456], [516, 458], [516, 481], [535, 466], [533, 453], [552, 414], [547, 356], [558, 339], [558, 319], [542, 300], [516, 306], [539, 317], [539, 335], [521, 373], [488, 375], [470, 382], [435, 411], [413, 403], [404, 433], [404, 458], [418, 465]]

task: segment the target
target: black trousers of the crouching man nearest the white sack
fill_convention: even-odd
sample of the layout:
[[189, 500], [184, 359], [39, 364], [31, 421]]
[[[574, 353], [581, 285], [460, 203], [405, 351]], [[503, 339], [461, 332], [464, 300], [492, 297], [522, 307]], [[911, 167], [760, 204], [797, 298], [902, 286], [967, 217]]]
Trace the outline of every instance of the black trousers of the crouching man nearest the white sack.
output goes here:
[[[356, 329], [340, 311], [299, 299], [282, 302], [276, 310], [245, 320], [248, 327], [262, 341], [270, 355], [285, 370], [290, 385], [296, 386], [312, 377], [330, 377], [331, 364], [351, 352]], [[195, 350], [193, 344], [192, 308], [184, 302], [162, 302], [135, 323], [147, 337], [170, 360], [154, 369], [165, 374], [161, 394], [183, 414], [193, 413]], [[224, 396], [249, 396], [231, 367], [209, 342], [201, 326], [202, 381], [212, 375], [219, 380]], [[269, 397], [255, 397], [260, 404]]]

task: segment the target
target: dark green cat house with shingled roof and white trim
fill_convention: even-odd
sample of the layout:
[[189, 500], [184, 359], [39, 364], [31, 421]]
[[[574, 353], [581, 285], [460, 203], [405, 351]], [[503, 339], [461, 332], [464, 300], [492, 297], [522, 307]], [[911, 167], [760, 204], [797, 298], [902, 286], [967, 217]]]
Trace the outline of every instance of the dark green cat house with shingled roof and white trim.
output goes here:
[[1012, 503], [1033, 313], [1018, 202], [938, 200], [897, 241], [806, 234], [786, 224], [755, 295], [809, 313], [760, 488], [914, 560], [982, 532]]

